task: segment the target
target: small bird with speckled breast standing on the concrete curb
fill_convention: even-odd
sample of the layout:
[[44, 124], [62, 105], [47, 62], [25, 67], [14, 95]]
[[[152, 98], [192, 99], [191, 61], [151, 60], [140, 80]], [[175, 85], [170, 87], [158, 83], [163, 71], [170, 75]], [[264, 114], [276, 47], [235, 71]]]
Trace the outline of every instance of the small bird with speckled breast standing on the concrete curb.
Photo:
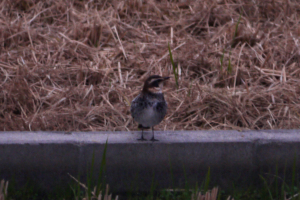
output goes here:
[[139, 123], [138, 128], [142, 129], [142, 137], [138, 140], [144, 141], [144, 129], [152, 128], [151, 141], [158, 141], [154, 138], [153, 127], [159, 124], [167, 114], [168, 104], [165, 101], [162, 87], [164, 81], [170, 77], [152, 75], [144, 83], [142, 92], [131, 102], [131, 115]]

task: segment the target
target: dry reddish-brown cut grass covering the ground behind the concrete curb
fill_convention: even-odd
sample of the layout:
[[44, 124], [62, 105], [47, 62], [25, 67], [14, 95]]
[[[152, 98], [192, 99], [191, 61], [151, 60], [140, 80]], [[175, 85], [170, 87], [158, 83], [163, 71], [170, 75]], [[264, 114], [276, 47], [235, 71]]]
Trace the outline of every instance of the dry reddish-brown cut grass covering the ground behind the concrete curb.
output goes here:
[[0, 129], [137, 130], [150, 74], [156, 130], [299, 128], [299, 22], [295, 0], [2, 0]]

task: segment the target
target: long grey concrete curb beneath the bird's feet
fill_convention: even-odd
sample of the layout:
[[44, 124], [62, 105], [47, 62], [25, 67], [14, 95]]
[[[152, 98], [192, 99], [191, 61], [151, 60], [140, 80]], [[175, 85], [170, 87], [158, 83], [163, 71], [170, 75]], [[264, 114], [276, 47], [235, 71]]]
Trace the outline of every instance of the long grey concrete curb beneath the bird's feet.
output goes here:
[[[37, 183], [45, 191], [85, 182], [99, 172], [105, 142], [105, 179], [114, 192], [201, 185], [208, 169], [213, 185], [223, 188], [259, 182], [258, 174], [291, 175], [300, 166], [299, 130], [165, 131], [159, 142], [140, 142], [140, 132], [0, 132], [0, 179], [22, 186]], [[151, 132], [145, 132], [151, 138]], [[95, 175], [97, 177], [97, 175]]]

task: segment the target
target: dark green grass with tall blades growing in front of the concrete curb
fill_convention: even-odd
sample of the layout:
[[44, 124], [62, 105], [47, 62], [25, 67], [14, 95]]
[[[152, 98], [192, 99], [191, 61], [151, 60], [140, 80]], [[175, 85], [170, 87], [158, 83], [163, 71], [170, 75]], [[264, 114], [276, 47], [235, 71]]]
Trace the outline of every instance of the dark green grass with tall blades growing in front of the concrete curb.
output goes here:
[[[297, 172], [296, 160], [290, 169], [284, 169], [283, 176], [276, 167], [275, 174], [264, 173], [260, 174], [260, 182], [249, 184], [248, 188], [241, 187], [238, 183], [228, 186], [226, 190], [222, 190], [211, 184], [211, 170], [208, 169], [204, 180], [199, 181], [201, 184], [189, 186], [188, 180], [185, 180], [185, 188], [174, 188], [157, 190], [154, 182], [148, 192], [141, 193], [138, 188], [134, 191], [127, 191], [126, 194], [110, 194], [109, 186], [105, 183], [106, 170], [106, 152], [107, 142], [101, 157], [101, 164], [98, 170], [98, 175], [94, 173], [95, 154], [92, 156], [90, 164], [88, 164], [89, 172], [87, 173], [86, 183], [80, 181], [69, 174], [73, 182], [68, 189], [60, 187], [52, 188], [52, 193], [48, 194], [41, 192], [38, 183], [28, 182], [21, 189], [14, 187], [14, 181], [11, 186], [7, 181], [2, 180], [0, 183], [0, 200], [9, 199], [76, 199], [76, 200], [111, 200], [111, 199], [130, 199], [130, 200], [300, 200], [300, 179]], [[296, 158], [295, 158], [296, 159]], [[96, 170], [97, 171], [97, 170]], [[171, 170], [171, 176], [172, 170]], [[286, 177], [286, 174], [290, 174]], [[80, 176], [78, 176], [80, 177]], [[130, 184], [131, 180], [128, 180]], [[152, 180], [154, 181], [154, 179]], [[112, 185], [113, 187], [113, 185]], [[66, 188], [66, 187], [64, 187]], [[210, 190], [210, 188], [212, 188]]]

